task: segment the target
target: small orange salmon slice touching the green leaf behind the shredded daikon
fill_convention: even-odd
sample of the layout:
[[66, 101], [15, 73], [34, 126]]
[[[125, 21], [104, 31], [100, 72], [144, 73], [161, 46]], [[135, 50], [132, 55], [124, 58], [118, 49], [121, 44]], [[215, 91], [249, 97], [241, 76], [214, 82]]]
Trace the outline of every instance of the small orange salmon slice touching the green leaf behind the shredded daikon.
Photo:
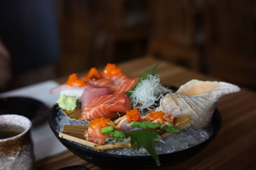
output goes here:
[[127, 81], [124, 81], [122, 83], [118, 83], [111, 87], [111, 93], [116, 94], [120, 92], [127, 92], [128, 90], [131, 90], [134, 85], [136, 85], [139, 78], [131, 78]]

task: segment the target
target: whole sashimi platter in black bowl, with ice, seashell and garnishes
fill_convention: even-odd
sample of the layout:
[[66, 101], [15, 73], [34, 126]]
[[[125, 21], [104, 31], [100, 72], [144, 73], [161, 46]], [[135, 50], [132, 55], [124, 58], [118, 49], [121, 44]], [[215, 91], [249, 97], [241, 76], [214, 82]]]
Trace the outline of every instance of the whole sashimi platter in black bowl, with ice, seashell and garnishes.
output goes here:
[[170, 155], [202, 147], [218, 132], [216, 104], [239, 87], [190, 80], [170, 89], [161, 85], [157, 67], [136, 78], [115, 64], [104, 71], [92, 67], [81, 77], [70, 74], [66, 83], [51, 89], [60, 93], [50, 115], [52, 131], [79, 157], [103, 166], [132, 159], [164, 166]]

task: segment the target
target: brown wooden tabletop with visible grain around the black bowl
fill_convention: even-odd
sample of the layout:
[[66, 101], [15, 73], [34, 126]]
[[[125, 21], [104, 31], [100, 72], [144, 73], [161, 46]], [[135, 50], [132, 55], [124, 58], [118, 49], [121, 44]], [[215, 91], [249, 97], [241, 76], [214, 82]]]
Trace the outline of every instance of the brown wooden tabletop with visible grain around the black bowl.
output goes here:
[[[124, 73], [136, 77], [159, 61], [152, 57], [144, 57], [120, 63], [118, 66]], [[160, 63], [157, 71], [164, 85], [179, 87], [193, 78], [217, 80], [170, 62], [160, 61]], [[61, 78], [57, 81], [65, 80]], [[256, 169], [256, 93], [241, 89], [241, 92], [223, 97], [217, 108], [221, 113], [222, 124], [216, 138], [191, 159], [159, 169]], [[71, 165], [101, 169], [69, 151], [38, 160], [36, 169], [60, 169]]]

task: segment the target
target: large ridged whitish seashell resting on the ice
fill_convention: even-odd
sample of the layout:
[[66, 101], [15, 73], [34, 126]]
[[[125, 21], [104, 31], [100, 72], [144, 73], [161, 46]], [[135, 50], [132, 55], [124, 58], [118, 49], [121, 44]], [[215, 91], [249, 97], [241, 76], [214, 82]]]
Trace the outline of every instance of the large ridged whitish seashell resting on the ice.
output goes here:
[[221, 97], [239, 92], [240, 88], [219, 81], [191, 80], [175, 93], [168, 93], [160, 100], [159, 109], [175, 117], [188, 114], [196, 129], [206, 127]]

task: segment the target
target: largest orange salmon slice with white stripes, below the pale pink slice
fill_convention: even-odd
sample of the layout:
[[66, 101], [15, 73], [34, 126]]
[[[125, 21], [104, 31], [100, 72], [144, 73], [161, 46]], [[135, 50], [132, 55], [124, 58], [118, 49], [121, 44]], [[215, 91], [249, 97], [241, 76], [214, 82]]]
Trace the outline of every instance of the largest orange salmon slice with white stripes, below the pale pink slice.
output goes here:
[[131, 110], [131, 100], [125, 92], [97, 97], [83, 110], [81, 120], [105, 117], [111, 113]]

